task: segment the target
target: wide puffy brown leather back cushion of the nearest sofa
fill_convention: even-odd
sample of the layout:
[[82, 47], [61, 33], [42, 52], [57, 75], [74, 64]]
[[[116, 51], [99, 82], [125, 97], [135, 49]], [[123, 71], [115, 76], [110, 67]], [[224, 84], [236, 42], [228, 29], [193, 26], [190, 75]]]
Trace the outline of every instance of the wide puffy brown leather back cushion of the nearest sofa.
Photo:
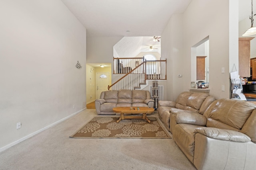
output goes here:
[[215, 100], [204, 112], [204, 116], [212, 118], [236, 129], [241, 129], [255, 109], [254, 104], [242, 100]]

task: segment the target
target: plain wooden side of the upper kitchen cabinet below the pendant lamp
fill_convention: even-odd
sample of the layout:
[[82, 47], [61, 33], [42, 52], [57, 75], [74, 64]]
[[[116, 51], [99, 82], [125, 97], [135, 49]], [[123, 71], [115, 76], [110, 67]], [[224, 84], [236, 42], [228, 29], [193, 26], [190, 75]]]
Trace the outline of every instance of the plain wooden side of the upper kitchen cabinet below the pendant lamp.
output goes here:
[[239, 38], [238, 62], [240, 77], [250, 77], [250, 41], [252, 39], [254, 39], [254, 37]]

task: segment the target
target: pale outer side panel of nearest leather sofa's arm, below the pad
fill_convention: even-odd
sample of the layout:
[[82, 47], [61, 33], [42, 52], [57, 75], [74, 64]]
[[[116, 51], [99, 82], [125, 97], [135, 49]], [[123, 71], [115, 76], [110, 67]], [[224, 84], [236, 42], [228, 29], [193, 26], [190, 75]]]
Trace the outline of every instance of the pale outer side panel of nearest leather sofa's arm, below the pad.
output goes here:
[[[255, 143], [213, 139], [196, 133], [193, 164], [198, 170], [255, 169]], [[245, 168], [246, 167], [246, 168]]]

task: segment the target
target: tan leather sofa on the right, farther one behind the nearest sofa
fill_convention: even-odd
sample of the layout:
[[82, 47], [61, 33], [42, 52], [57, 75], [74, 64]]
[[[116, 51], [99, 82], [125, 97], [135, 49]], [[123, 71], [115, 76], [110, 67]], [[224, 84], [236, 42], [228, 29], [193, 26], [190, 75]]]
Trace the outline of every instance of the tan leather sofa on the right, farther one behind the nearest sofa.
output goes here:
[[178, 108], [184, 110], [196, 111], [200, 114], [204, 114], [206, 108], [215, 100], [213, 96], [209, 96], [206, 93], [192, 93], [182, 92], [176, 102], [163, 101], [158, 102], [158, 114], [160, 120], [164, 123], [165, 127], [172, 132], [172, 126], [170, 126], [170, 109]]

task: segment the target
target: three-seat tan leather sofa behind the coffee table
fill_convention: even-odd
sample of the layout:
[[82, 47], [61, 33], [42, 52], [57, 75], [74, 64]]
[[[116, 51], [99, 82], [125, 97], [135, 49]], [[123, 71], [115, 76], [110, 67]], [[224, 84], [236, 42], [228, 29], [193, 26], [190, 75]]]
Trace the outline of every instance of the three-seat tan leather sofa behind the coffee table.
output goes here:
[[153, 107], [153, 105], [154, 100], [151, 99], [148, 90], [109, 90], [102, 92], [100, 99], [95, 100], [98, 115], [118, 115], [113, 112], [114, 107]]

